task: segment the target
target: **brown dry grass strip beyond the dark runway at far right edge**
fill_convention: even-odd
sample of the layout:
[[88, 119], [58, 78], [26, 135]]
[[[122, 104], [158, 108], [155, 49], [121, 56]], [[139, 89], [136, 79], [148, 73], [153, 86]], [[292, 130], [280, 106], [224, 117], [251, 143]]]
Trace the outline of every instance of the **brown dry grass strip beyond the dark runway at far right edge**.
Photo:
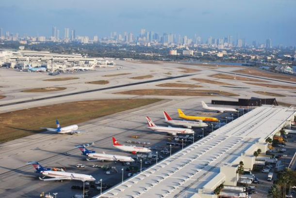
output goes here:
[[270, 71], [263, 71], [263, 70], [248, 68], [248, 69], [235, 70], [233, 72], [247, 74], [247, 75], [253, 75], [253, 76], [260, 76], [260, 77], [265, 77], [265, 78], [279, 79], [279, 80], [283, 80], [283, 81], [296, 82], [296, 77], [293, 77], [290, 75], [285, 75], [285, 74], [273, 73]]

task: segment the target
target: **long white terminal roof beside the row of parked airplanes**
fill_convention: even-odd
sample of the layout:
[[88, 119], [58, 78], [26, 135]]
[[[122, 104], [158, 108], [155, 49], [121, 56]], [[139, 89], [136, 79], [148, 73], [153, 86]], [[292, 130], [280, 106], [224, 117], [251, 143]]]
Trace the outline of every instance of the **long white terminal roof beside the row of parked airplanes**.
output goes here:
[[295, 113], [290, 108], [258, 107], [96, 198], [185, 198], [210, 189], [214, 177], [225, 177], [221, 166], [231, 165], [256, 142], [278, 132]]

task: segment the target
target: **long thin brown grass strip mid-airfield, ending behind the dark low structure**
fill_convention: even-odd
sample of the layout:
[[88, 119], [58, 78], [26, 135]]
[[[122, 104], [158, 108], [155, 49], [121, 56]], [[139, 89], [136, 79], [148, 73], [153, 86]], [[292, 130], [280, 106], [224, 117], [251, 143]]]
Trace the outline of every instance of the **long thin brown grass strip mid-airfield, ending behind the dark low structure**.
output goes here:
[[239, 96], [218, 90], [184, 90], [184, 89], [135, 89], [116, 92], [115, 94], [153, 95], [153, 96]]

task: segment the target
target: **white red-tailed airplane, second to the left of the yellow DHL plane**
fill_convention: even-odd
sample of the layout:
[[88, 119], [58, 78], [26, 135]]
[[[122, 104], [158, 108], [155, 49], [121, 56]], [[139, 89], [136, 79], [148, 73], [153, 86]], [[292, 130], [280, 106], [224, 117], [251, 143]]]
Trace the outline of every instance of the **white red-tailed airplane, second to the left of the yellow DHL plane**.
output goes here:
[[154, 122], [149, 118], [146, 117], [148, 122], [148, 129], [156, 132], [167, 132], [171, 135], [177, 135], [178, 133], [181, 134], [193, 134], [194, 131], [192, 129], [184, 129], [184, 128], [175, 128], [175, 127], [158, 127], [154, 124]]

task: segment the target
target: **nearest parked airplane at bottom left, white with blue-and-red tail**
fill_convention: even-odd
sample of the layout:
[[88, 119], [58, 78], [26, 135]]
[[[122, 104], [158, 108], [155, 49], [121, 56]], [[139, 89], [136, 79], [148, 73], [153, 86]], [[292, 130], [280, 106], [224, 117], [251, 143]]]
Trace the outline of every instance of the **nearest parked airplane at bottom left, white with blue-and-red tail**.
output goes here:
[[[43, 167], [38, 162], [28, 162], [27, 164], [33, 165], [33, 167], [36, 169], [36, 172], [41, 173], [43, 175], [42, 178], [39, 177], [39, 180], [42, 180], [42, 181], [62, 181], [62, 180], [96, 181], [96, 179], [91, 175], [49, 170], [49, 168]], [[50, 177], [50, 178], [45, 179], [46, 177]]]

